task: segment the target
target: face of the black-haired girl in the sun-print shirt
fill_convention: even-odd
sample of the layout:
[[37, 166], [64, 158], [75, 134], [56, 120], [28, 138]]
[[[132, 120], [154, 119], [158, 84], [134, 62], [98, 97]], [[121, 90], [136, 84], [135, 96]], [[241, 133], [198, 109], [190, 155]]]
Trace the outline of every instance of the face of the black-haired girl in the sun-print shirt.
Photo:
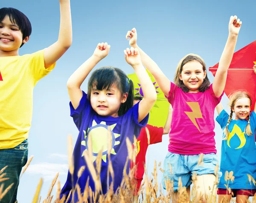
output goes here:
[[109, 89], [98, 90], [92, 88], [90, 103], [93, 110], [101, 116], [118, 117], [121, 103], [125, 103], [128, 93], [121, 95], [121, 91], [113, 84]]

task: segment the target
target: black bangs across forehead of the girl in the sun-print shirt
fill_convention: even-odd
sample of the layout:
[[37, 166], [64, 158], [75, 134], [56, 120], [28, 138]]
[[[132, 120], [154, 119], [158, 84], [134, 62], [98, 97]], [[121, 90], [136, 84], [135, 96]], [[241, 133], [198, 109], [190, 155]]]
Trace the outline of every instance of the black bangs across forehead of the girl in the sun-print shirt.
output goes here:
[[88, 82], [88, 87], [97, 90], [109, 90], [113, 84], [116, 84], [118, 89], [120, 89], [119, 82], [114, 69], [111, 67], [104, 67], [93, 72]]

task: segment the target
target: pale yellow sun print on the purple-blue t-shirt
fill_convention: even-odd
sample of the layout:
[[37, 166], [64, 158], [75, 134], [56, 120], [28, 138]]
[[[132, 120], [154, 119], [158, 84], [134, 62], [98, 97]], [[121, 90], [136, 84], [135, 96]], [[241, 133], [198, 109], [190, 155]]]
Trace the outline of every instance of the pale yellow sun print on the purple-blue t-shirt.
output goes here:
[[[120, 134], [114, 133], [113, 129], [115, 128], [116, 123], [110, 126], [111, 136], [112, 136], [112, 149], [111, 154], [116, 155], [114, 146], [119, 145], [120, 141], [116, 141], [117, 137], [120, 137]], [[85, 146], [85, 150], [82, 154], [88, 151], [88, 134], [91, 136], [92, 148], [93, 148], [93, 162], [96, 160], [96, 157], [100, 150], [102, 151], [102, 160], [107, 162], [107, 154], [108, 154], [108, 126], [105, 121], [100, 122], [99, 124], [93, 120], [92, 126], [87, 129], [87, 132], [84, 131], [84, 140], [81, 142], [81, 145]]]

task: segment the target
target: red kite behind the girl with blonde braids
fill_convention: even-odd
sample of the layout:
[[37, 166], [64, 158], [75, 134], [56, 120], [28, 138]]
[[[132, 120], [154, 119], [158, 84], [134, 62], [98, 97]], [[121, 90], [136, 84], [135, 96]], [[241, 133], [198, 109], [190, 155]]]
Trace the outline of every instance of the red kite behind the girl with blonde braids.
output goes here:
[[[230, 93], [237, 90], [247, 91], [253, 100], [252, 110], [254, 109], [256, 94], [256, 74], [253, 72], [255, 64], [256, 41], [234, 53], [227, 71], [227, 82], [224, 89], [228, 97]], [[215, 76], [217, 69], [218, 63], [210, 67], [209, 71]]]

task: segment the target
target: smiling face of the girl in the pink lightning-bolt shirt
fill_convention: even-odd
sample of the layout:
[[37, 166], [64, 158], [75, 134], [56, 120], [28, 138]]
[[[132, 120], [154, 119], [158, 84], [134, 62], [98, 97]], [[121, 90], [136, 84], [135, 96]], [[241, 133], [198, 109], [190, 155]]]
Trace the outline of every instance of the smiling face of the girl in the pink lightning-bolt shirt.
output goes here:
[[189, 92], [198, 92], [199, 87], [204, 82], [206, 71], [203, 66], [196, 60], [190, 61], [183, 65], [182, 71], [179, 74], [180, 80], [189, 89]]

